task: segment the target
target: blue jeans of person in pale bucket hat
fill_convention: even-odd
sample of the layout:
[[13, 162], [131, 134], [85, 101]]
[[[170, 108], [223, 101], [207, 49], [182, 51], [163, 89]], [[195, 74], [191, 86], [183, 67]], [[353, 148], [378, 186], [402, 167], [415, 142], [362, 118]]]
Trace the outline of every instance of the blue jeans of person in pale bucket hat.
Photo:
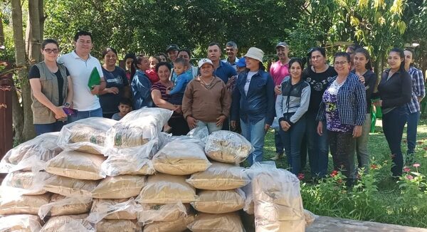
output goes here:
[[263, 161], [265, 118], [258, 122], [243, 122], [243, 120], [241, 120], [241, 127], [243, 137], [248, 139], [255, 149], [248, 157], [249, 165], [252, 166], [255, 162]]

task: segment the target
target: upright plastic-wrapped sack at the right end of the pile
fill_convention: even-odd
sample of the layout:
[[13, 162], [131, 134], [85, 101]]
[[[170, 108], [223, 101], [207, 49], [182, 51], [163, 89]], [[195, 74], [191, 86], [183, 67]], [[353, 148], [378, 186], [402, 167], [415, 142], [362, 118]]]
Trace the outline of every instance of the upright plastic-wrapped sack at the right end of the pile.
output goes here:
[[300, 181], [283, 169], [265, 170], [252, 180], [256, 231], [305, 231]]

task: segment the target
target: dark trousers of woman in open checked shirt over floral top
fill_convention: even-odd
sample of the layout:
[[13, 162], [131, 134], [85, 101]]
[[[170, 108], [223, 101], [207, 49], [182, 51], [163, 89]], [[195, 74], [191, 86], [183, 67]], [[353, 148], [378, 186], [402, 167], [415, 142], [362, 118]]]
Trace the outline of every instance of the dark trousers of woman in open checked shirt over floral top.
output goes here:
[[334, 161], [334, 170], [342, 171], [344, 176], [352, 179], [352, 170], [354, 162], [354, 146], [356, 144], [352, 132], [333, 132], [327, 131], [327, 138], [330, 144], [332, 159]]

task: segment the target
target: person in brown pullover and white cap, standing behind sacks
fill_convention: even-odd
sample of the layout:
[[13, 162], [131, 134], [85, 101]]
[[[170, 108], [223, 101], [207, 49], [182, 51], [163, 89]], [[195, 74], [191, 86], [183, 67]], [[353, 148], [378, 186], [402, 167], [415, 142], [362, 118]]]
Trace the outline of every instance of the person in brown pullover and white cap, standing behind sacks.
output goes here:
[[192, 129], [208, 127], [211, 132], [221, 130], [231, 105], [226, 84], [214, 75], [214, 63], [204, 58], [199, 61], [200, 75], [187, 85], [182, 100], [182, 112]]

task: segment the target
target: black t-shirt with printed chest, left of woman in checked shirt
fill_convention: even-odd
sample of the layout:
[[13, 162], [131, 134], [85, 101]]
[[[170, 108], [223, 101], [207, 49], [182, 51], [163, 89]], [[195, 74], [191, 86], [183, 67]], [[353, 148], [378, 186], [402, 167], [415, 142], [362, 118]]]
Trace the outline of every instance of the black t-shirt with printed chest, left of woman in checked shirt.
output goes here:
[[323, 93], [325, 92], [328, 81], [337, 75], [334, 67], [330, 66], [323, 73], [315, 73], [311, 66], [302, 71], [302, 80], [310, 84], [310, 105], [308, 112], [317, 113], [319, 111], [320, 102], [322, 101]]

